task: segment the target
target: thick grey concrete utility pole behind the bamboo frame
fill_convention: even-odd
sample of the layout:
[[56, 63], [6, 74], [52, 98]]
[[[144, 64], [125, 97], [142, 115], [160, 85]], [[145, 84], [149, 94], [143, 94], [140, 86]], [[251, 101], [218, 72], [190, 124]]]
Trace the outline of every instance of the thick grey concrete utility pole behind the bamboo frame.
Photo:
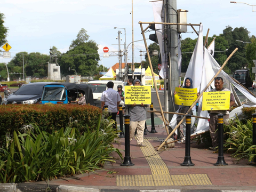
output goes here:
[[[170, 23], [177, 23], [177, 1], [166, 0], [165, 4], [167, 8], [166, 19]], [[179, 73], [178, 72], [178, 26], [169, 26], [168, 33], [168, 59], [170, 61], [169, 77], [168, 77], [168, 100], [169, 111], [175, 112], [174, 95], [175, 87], [179, 86]], [[169, 119], [172, 119], [172, 114], [169, 115]]]

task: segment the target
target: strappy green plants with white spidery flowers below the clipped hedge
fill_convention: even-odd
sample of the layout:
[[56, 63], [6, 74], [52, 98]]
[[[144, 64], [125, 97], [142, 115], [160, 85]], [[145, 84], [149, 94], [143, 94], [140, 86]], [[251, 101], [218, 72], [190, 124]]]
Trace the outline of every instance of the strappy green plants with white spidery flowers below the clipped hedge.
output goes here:
[[[94, 131], [81, 134], [70, 121], [64, 131], [47, 133], [36, 124], [14, 131], [0, 148], [0, 182], [40, 181], [94, 172], [102, 169], [106, 161], [115, 162], [111, 153], [122, 154], [111, 144], [117, 138], [114, 122], [98, 116]], [[78, 121], [79, 122], [79, 121]], [[35, 133], [34, 133], [35, 132]]]

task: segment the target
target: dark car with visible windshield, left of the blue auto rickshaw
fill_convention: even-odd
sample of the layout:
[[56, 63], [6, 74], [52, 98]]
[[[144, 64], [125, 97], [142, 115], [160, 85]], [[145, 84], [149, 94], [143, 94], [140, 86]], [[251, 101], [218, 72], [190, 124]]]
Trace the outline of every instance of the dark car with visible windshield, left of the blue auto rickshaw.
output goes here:
[[44, 85], [53, 82], [29, 83], [21, 86], [8, 98], [3, 99], [3, 104], [34, 104], [41, 101]]

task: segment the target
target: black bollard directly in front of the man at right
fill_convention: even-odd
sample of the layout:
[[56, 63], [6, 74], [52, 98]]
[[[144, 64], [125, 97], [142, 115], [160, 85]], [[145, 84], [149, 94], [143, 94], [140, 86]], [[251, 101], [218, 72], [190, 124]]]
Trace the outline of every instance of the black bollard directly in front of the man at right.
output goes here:
[[219, 132], [219, 156], [216, 163], [213, 165], [228, 165], [225, 162], [223, 156], [223, 114], [219, 114], [218, 116], [218, 132]]

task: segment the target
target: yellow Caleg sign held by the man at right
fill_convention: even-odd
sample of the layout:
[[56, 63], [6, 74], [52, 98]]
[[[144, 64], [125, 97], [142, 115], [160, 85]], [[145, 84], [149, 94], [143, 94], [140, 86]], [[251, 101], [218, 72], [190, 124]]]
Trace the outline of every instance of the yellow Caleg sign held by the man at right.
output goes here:
[[203, 93], [202, 110], [228, 110], [230, 91], [211, 91]]

